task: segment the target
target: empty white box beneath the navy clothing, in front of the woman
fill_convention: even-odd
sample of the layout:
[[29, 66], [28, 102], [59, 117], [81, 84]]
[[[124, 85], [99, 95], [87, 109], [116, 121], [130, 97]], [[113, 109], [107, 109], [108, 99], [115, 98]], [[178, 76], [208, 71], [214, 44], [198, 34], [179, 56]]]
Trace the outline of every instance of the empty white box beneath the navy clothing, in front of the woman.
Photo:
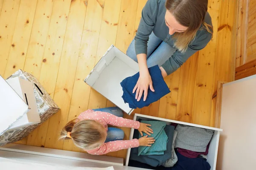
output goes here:
[[137, 72], [139, 72], [138, 63], [111, 45], [84, 82], [113, 102], [122, 111], [131, 114], [134, 109], [131, 109], [128, 103], [122, 99], [123, 91], [120, 82]]

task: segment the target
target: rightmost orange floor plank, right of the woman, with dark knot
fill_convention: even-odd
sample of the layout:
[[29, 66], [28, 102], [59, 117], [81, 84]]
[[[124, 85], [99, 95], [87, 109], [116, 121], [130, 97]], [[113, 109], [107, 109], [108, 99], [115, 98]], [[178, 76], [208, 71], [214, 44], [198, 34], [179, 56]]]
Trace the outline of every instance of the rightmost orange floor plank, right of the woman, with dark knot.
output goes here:
[[218, 23], [218, 40], [215, 59], [214, 86], [212, 89], [212, 108], [210, 126], [215, 122], [216, 92], [218, 81], [230, 82], [234, 80], [235, 50], [236, 49], [236, 1], [222, 1]]

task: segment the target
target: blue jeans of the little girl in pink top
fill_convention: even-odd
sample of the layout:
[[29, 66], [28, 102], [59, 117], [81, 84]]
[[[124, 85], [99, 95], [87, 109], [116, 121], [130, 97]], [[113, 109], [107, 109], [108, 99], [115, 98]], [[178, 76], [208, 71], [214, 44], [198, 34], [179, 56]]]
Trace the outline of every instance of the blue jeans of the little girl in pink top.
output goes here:
[[[123, 116], [122, 110], [117, 107], [93, 109], [93, 111], [107, 112], [118, 117]], [[107, 135], [107, 139], [105, 140], [105, 143], [116, 141], [116, 140], [122, 140], [124, 139], [124, 136], [125, 136], [125, 133], [122, 129], [119, 129], [116, 127], [108, 127], [108, 135]]]

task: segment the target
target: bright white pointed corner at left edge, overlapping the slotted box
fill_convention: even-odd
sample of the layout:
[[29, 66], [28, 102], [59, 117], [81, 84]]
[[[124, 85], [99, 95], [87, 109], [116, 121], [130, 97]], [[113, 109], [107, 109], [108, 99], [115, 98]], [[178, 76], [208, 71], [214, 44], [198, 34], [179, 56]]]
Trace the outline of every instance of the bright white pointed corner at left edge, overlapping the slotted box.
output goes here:
[[0, 135], [30, 110], [12, 87], [0, 76]]

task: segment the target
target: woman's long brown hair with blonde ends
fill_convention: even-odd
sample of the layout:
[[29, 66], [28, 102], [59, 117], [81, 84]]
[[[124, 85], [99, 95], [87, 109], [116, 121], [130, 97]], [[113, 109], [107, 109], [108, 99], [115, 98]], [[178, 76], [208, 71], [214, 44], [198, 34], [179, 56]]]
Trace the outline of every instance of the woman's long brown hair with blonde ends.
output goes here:
[[195, 39], [202, 24], [212, 34], [212, 26], [204, 22], [207, 5], [208, 0], [166, 0], [166, 9], [174, 15], [177, 22], [188, 27], [186, 31], [173, 35], [175, 47], [182, 53], [186, 52], [189, 43]]

